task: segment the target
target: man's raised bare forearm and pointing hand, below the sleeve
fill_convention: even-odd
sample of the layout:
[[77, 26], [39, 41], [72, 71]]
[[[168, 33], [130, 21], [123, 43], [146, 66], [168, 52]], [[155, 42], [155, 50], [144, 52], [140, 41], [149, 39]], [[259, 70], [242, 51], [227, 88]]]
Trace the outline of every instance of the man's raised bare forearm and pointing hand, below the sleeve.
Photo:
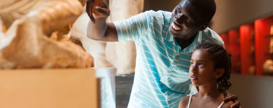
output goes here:
[[106, 23], [110, 15], [104, 0], [87, 0], [86, 12], [91, 19], [87, 26], [87, 37], [93, 40], [116, 42], [118, 33], [114, 23]]

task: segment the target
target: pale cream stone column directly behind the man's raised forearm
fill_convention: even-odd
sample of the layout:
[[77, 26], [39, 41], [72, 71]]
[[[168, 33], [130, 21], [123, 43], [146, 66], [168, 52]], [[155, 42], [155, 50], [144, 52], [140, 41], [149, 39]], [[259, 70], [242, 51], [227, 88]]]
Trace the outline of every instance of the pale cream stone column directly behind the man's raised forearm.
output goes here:
[[[109, 0], [111, 14], [108, 22], [128, 19], [143, 12], [144, 0]], [[133, 41], [107, 42], [106, 58], [117, 74], [133, 74], [136, 67], [136, 46]]]

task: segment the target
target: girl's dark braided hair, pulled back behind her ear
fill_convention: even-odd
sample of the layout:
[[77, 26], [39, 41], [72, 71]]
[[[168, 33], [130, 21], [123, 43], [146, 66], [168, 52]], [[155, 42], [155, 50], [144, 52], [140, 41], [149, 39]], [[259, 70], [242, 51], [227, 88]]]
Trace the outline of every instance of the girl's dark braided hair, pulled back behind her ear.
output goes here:
[[220, 92], [225, 92], [226, 89], [229, 89], [232, 85], [229, 81], [231, 73], [231, 55], [219, 44], [201, 44], [196, 49], [205, 49], [206, 52], [209, 53], [211, 60], [214, 62], [214, 68], [223, 68], [225, 70], [223, 76], [217, 79], [217, 89]]

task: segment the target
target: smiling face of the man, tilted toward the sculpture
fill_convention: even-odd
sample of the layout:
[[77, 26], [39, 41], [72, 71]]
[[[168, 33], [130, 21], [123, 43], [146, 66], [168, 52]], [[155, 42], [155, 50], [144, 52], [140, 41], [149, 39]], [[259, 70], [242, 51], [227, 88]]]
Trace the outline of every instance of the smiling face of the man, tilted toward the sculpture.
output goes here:
[[190, 39], [203, 24], [202, 13], [188, 0], [182, 0], [172, 11], [169, 32], [174, 37]]

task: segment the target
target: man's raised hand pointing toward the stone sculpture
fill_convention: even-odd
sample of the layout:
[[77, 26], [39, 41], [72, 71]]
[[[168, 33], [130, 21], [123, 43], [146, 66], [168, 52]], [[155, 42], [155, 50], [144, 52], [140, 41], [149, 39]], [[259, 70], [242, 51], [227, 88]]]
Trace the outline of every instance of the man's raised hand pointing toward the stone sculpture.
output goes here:
[[104, 0], [87, 0], [86, 12], [93, 23], [96, 22], [94, 16], [106, 18], [110, 15], [109, 6]]

